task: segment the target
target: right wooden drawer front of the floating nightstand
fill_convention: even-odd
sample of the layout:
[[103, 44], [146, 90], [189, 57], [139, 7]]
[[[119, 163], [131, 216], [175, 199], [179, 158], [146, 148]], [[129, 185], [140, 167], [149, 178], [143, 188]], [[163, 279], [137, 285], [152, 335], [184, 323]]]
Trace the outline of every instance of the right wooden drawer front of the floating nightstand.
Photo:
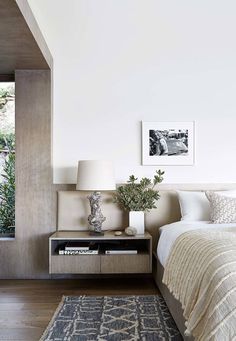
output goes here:
[[150, 273], [149, 254], [102, 255], [101, 273]]

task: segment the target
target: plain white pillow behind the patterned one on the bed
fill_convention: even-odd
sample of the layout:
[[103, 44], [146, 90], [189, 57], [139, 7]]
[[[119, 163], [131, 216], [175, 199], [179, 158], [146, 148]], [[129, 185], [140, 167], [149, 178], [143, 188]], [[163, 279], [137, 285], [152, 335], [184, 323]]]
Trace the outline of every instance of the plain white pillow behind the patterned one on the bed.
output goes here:
[[[219, 195], [236, 198], [236, 190], [217, 191]], [[210, 221], [210, 203], [205, 192], [201, 191], [177, 191], [181, 220], [185, 221]]]

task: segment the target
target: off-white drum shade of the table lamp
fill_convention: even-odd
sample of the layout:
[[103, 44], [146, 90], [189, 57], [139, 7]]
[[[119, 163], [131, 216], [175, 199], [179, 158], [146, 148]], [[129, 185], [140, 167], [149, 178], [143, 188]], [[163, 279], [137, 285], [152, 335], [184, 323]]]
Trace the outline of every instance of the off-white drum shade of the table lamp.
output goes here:
[[82, 160], [78, 163], [76, 189], [80, 191], [115, 190], [115, 178], [111, 161]]

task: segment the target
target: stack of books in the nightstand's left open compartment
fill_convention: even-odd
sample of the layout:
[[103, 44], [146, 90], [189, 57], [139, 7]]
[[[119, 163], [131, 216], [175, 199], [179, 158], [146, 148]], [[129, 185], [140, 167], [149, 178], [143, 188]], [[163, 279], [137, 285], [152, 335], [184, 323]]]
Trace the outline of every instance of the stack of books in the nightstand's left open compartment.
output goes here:
[[79, 242], [68, 242], [65, 246], [59, 248], [59, 255], [97, 255], [98, 245], [82, 244]]

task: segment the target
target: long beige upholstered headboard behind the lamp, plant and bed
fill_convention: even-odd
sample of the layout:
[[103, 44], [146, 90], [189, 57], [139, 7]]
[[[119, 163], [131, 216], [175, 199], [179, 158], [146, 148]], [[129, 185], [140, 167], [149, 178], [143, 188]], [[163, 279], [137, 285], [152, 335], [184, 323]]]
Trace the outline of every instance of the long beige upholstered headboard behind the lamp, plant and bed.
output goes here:
[[[158, 238], [158, 228], [180, 220], [180, 208], [176, 190], [227, 190], [236, 189], [236, 184], [174, 184], [159, 185], [161, 198], [157, 208], [146, 213], [146, 229], [154, 238]], [[87, 217], [90, 214], [89, 193], [79, 191], [58, 192], [58, 230], [87, 230]], [[112, 201], [111, 193], [102, 195], [102, 213], [106, 217], [104, 230], [121, 230], [128, 226], [128, 213], [122, 211]]]

